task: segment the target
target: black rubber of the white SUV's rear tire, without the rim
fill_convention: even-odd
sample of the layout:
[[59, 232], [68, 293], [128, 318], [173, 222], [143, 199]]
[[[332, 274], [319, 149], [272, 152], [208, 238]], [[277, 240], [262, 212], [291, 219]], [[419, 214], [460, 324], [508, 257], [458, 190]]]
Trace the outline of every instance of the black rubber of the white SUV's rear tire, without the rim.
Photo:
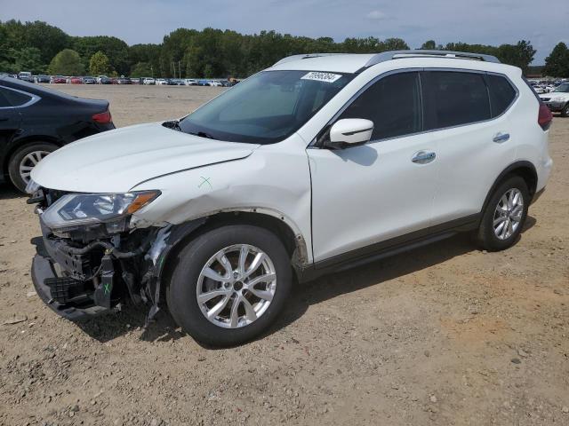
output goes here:
[[[494, 232], [494, 213], [498, 207], [498, 203], [501, 201], [501, 197], [510, 189], [519, 190], [522, 195], [524, 205], [522, 216], [519, 221], [519, 225], [517, 225], [517, 229], [511, 233], [508, 238], [504, 238], [502, 240], [498, 238]], [[478, 227], [476, 236], [480, 247], [488, 251], [500, 251], [513, 246], [517, 241], [518, 235], [524, 228], [525, 218], [527, 217], [527, 209], [530, 205], [530, 201], [530, 193], [527, 185], [525, 184], [525, 180], [519, 176], [506, 177], [504, 181], [494, 190], [490, 200], [488, 201], [488, 204], [485, 207], [485, 211], [483, 213], [482, 220], [480, 221], [480, 226]]]

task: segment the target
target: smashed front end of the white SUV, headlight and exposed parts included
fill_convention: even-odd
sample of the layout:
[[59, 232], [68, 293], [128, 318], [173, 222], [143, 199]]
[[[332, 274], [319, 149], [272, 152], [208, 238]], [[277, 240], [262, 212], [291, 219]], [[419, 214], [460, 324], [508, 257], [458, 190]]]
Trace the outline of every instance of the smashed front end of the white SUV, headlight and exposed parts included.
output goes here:
[[[158, 312], [164, 260], [201, 221], [184, 225], [133, 225], [132, 213], [158, 192], [63, 193], [37, 188], [42, 238], [36, 238], [32, 280], [37, 294], [68, 319], [148, 304], [147, 323]], [[139, 225], [140, 226], [140, 225]]]

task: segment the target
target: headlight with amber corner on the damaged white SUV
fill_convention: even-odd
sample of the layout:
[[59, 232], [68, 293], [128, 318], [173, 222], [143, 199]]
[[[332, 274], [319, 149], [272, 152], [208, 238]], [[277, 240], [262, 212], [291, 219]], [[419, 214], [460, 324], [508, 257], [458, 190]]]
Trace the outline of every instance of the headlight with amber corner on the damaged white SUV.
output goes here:
[[[156, 199], [160, 191], [140, 193], [68, 193], [44, 211], [42, 220], [51, 229], [108, 224], [109, 232], [124, 231], [124, 218]], [[116, 226], [113, 226], [116, 225]]]

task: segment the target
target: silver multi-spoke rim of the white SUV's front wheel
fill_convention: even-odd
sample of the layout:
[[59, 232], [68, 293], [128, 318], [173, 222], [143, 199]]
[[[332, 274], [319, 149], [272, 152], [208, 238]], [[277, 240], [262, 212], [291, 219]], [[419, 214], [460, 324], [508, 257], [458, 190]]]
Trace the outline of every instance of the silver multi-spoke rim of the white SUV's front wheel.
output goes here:
[[260, 248], [235, 244], [220, 249], [197, 279], [197, 304], [218, 327], [238, 328], [259, 319], [276, 290], [275, 265]]

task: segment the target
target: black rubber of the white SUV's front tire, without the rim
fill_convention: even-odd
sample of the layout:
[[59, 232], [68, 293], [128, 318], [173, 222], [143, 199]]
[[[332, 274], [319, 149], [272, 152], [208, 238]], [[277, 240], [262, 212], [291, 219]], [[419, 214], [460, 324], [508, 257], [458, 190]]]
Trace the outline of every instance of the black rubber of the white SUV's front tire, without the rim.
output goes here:
[[[275, 295], [267, 310], [243, 327], [224, 328], [206, 319], [197, 304], [196, 286], [202, 268], [220, 249], [249, 244], [264, 251], [276, 270]], [[235, 346], [265, 331], [283, 309], [291, 290], [293, 272], [290, 256], [274, 233], [252, 225], [227, 225], [203, 233], [180, 251], [166, 289], [172, 318], [198, 342], [210, 346]]]

